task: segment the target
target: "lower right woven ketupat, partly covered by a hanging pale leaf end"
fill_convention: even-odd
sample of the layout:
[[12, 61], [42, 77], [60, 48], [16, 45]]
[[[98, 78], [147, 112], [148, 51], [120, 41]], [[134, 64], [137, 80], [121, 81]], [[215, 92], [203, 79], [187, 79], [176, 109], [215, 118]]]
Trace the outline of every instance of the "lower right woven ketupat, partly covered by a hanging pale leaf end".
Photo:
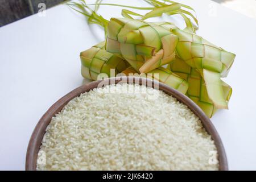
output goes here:
[[[210, 100], [204, 78], [201, 77], [200, 73], [178, 57], [168, 65], [167, 69], [170, 69], [188, 82], [189, 87], [186, 95], [199, 105], [204, 113], [211, 118], [217, 111], [217, 107], [214, 106], [213, 102]], [[232, 95], [232, 88], [224, 81], [221, 81], [221, 84], [225, 101], [228, 103]]]

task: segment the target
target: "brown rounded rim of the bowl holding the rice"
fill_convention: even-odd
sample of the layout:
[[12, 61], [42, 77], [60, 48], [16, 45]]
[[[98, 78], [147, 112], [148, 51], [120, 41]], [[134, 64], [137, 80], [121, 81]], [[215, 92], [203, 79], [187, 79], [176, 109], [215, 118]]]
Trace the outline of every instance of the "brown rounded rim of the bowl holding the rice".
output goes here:
[[[146, 78], [141, 78], [141, 77], [129, 77], [129, 79], [127, 79], [127, 77], [106, 78], [105, 85], [128, 82], [128, 80], [129, 80], [129, 83], [136, 83], [140, 85], [142, 85], [145, 82], [147, 83], [151, 82], [153, 88], [155, 88], [154, 85], [158, 84], [159, 90], [162, 90], [163, 92], [173, 97], [176, 97], [178, 101], [187, 105], [189, 109], [191, 109], [193, 113], [195, 113], [197, 117], [200, 118], [201, 122], [205, 127], [205, 130], [207, 130], [207, 132], [212, 136], [218, 151], [218, 160], [220, 164], [219, 169], [228, 170], [228, 162], [226, 159], [226, 154], [225, 154], [225, 150], [221, 142], [221, 139], [216, 129], [214, 128], [212, 122], [207, 117], [207, 115], [204, 114], [203, 110], [201, 110], [199, 106], [197, 106], [192, 100], [190, 100], [184, 94], [178, 92], [175, 89], [170, 88], [170, 86], [167, 86], [157, 81], [148, 80]], [[44, 133], [46, 133], [46, 127], [49, 125], [49, 122], [51, 122], [52, 117], [55, 116], [55, 114], [59, 113], [59, 111], [63, 109], [63, 107], [67, 105], [68, 102], [71, 101], [73, 98], [80, 96], [81, 93], [89, 92], [89, 90], [93, 88], [97, 88], [100, 82], [101, 81], [93, 81], [93, 82], [90, 82], [89, 84], [82, 85], [79, 88], [76, 88], [75, 90], [69, 92], [67, 95], [62, 97], [59, 101], [57, 101], [47, 110], [47, 112], [43, 115], [43, 117], [40, 119], [40, 121], [36, 125], [31, 135], [30, 142], [28, 143], [27, 156], [26, 156], [26, 170], [36, 170], [36, 159], [38, 157], [38, 151], [40, 149]]]

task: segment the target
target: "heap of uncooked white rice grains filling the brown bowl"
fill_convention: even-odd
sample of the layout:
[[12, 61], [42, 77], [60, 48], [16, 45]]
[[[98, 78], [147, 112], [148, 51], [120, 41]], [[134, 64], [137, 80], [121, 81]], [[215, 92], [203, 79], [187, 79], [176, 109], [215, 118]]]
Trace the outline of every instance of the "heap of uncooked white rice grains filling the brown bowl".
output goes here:
[[176, 98], [146, 86], [117, 84], [83, 93], [46, 131], [38, 170], [218, 169], [218, 161], [209, 163], [216, 146], [199, 118]]

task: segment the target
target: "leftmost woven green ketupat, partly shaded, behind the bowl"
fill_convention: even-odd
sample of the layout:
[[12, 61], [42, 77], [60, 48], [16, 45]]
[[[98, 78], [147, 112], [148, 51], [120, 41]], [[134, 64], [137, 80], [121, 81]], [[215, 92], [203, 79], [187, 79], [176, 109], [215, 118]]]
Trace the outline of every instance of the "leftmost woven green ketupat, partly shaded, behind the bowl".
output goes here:
[[105, 50], [105, 42], [101, 42], [86, 51], [80, 53], [82, 76], [90, 80], [97, 80], [100, 73], [105, 73], [109, 77], [110, 69], [115, 73], [121, 73], [130, 65], [118, 56]]

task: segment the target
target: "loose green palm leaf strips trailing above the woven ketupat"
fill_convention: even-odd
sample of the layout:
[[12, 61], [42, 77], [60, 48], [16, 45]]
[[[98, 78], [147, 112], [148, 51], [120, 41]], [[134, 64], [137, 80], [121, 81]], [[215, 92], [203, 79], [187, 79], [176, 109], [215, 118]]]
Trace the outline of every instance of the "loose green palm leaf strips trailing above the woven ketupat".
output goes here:
[[[149, 3], [153, 7], [137, 7], [137, 6], [118, 5], [113, 3], [101, 3], [102, 0], [97, 0], [96, 3], [93, 3], [93, 4], [86, 4], [85, 0], [80, 0], [79, 2], [70, 2], [68, 3], [68, 5], [71, 6], [71, 8], [74, 9], [75, 11], [85, 15], [88, 18], [88, 23], [95, 23], [103, 27], [105, 30], [105, 33], [107, 29], [108, 20], [104, 19], [101, 15], [97, 14], [98, 8], [101, 5], [126, 7], [129, 9], [136, 9], [136, 10], [150, 10], [150, 12], [146, 13], [145, 15], [141, 15], [131, 10], [123, 9], [121, 13], [122, 16], [124, 18], [130, 18], [130, 19], [133, 19], [131, 15], [138, 16], [141, 19], [148, 19], [148, 18], [162, 16], [162, 14], [164, 13], [167, 15], [180, 14], [181, 16], [183, 16], [185, 20], [185, 23], [187, 25], [187, 30], [194, 32], [198, 28], [198, 21], [196, 16], [194, 16], [192, 13], [187, 11], [188, 9], [188, 10], [192, 10], [193, 13], [195, 13], [195, 10], [193, 10], [192, 7], [183, 5], [181, 3], [177, 3], [174, 1], [166, 1], [166, 0], [163, 1], [164, 3], [156, 0], [144, 0], [144, 1]], [[89, 6], [94, 6], [94, 9], [90, 8]], [[187, 17], [187, 15], [192, 17], [192, 19], [195, 21], [197, 26], [192, 25], [191, 20]]]

